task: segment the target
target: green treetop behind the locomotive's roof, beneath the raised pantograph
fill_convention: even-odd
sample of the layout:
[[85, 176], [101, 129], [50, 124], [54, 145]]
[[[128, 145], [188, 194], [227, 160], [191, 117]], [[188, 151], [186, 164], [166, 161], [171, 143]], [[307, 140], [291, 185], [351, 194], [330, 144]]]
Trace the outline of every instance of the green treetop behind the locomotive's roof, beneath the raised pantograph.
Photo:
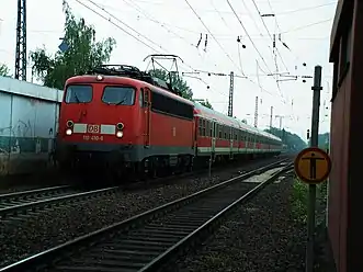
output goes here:
[[[156, 78], [159, 78], [167, 82], [170, 82], [169, 73], [166, 70], [152, 69], [152, 70], [149, 70], [149, 72], [152, 77], [156, 77]], [[171, 83], [172, 88], [175, 88], [178, 91], [181, 92], [182, 98], [189, 99], [189, 100], [193, 99], [192, 89], [188, 86], [186, 81], [183, 80], [182, 77], [171, 72], [171, 82], [170, 83]]]

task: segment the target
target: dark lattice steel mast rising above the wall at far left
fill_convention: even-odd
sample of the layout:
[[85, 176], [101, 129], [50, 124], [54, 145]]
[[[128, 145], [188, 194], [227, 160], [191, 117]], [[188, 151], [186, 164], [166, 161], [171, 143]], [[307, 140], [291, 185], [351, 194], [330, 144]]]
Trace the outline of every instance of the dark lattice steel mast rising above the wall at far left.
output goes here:
[[15, 79], [26, 81], [26, 0], [18, 0]]

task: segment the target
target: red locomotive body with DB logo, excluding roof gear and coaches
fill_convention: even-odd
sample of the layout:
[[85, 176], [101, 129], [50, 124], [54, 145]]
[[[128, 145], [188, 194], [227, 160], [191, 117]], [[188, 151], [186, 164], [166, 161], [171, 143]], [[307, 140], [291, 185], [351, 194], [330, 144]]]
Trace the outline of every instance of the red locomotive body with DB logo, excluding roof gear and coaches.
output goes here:
[[101, 156], [117, 165], [157, 156], [192, 157], [193, 113], [191, 101], [145, 81], [73, 77], [66, 82], [60, 110], [58, 158], [66, 162]]

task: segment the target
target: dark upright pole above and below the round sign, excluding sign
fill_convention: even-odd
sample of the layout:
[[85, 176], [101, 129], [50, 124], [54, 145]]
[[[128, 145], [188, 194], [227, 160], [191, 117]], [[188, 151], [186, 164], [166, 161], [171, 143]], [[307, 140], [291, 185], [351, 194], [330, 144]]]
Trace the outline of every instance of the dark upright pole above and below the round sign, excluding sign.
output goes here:
[[[311, 116], [311, 139], [310, 146], [318, 147], [319, 136], [319, 107], [321, 87], [321, 66], [316, 66], [314, 71], [313, 116]], [[315, 230], [315, 202], [316, 185], [309, 184], [309, 201], [307, 207], [307, 247], [306, 247], [306, 272], [314, 271], [314, 230]]]

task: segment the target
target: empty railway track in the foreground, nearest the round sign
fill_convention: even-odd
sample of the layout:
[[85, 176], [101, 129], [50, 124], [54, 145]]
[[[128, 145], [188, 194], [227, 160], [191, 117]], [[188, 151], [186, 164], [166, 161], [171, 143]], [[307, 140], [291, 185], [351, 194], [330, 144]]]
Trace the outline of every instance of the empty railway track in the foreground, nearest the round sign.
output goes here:
[[[279, 168], [279, 169], [275, 169]], [[263, 182], [240, 182], [268, 170]], [[209, 236], [238, 204], [292, 169], [287, 159], [82, 236], [0, 271], [158, 271]]]

